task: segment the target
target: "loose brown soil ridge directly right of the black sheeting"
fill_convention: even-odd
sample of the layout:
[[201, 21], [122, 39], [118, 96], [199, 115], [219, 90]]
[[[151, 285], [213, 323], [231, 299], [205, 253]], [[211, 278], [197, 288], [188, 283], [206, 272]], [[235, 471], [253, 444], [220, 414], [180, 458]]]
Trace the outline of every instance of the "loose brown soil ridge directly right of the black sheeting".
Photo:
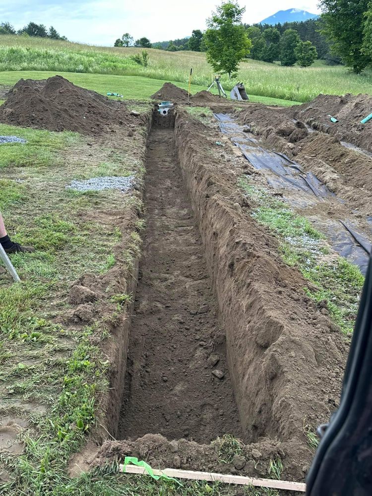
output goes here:
[[[324, 96], [318, 97], [320, 101], [322, 97]], [[348, 95], [343, 98], [347, 97]], [[358, 98], [349, 96], [349, 100], [354, 103], [358, 102]], [[325, 97], [323, 99], [325, 115], [329, 111], [326, 107], [327, 99]], [[341, 101], [342, 97], [329, 97], [329, 99]], [[362, 101], [365, 102], [366, 99]], [[314, 102], [317, 102], [317, 99]], [[344, 111], [346, 113], [347, 109]], [[297, 115], [298, 119], [292, 118], [291, 113], [293, 116]], [[369, 143], [368, 140], [372, 137], [372, 124], [365, 124], [359, 135], [351, 133], [346, 136], [341, 128], [339, 132], [334, 133], [335, 135], [329, 135], [332, 134], [329, 129], [327, 132], [324, 132], [324, 129], [313, 130], [307, 124], [307, 121], [310, 121], [306, 119], [306, 113], [297, 111], [295, 107], [287, 110], [251, 105], [236, 113], [236, 116], [240, 123], [247, 125], [248, 131], [261, 136], [272, 149], [285, 153], [304, 166], [305, 170], [313, 172], [331, 191], [350, 202], [360, 215], [372, 214], [372, 157], [363, 153], [363, 150], [348, 148], [340, 142], [340, 139], [348, 139], [356, 146], [366, 145], [365, 148], [368, 150], [367, 142]], [[346, 122], [350, 124], [355, 119], [356, 117], [351, 114]], [[332, 124], [332, 126], [338, 125], [339, 123]], [[362, 135], [363, 139], [360, 138]]]

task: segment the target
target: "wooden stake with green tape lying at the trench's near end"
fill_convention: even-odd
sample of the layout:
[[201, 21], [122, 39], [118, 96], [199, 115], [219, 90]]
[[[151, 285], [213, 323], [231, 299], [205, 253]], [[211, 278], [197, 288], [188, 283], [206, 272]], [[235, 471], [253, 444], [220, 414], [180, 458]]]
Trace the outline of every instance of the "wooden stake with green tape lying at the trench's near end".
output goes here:
[[[135, 465], [119, 465], [120, 471], [125, 474], [148, 475], [143, 467]], [[241, 486], [258, 486], [261, 488], [286, 489], [288, 491], [300, 491], [305, 493], [306, 484], [301, 482], [276, 481], [273, 479], [254, 479], [240, 475], [216, 474], [213, 472], [194, 472], [192, 470], [178, 470], [166, 468], [164, 470], [153, 470], [155, 475], [167, 475], [176, 479], [192, 479], [195, 481], [225, 482], [226, 484], [238, 484]]]

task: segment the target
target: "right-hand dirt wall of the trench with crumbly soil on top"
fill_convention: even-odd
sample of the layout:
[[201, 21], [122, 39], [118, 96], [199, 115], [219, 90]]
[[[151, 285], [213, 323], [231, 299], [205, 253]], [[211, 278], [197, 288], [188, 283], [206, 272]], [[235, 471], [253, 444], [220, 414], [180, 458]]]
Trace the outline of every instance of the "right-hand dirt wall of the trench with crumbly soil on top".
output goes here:
[[241, 424], [250, 442], [296, 438], [290, 450], [306, 449], [304, 419], [316, 426], [334, 407], [329, 374], [342, 370], [343, 340], [306, 297], [302, 276], [282, 263], [274, 238], [248, 215], [237, 179], [211, 159], [213, 139], [178, 113], [176, 149], [226, 332]]

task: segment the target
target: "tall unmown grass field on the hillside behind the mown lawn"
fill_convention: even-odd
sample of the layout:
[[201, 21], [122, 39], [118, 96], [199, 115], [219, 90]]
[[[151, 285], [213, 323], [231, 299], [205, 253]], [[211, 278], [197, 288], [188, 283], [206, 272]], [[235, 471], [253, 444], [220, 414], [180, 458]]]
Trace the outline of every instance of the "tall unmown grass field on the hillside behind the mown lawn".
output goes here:
[[[205, 54], [196, 52], [165, 52], [150, 49], [150, 63], [142, 67], [129, 59], [140, 52], [136, 48], [92, 47], [64, 41], [0, 36], [0, 69], [54, 70], [95, 72], [126, 76], [143, 76], [186, 84], [190, 67], [193, 83], [205, 87], [213, 73]], [[350, 74], [343, 66], [326, 66], [317, 61], [310, 67], [282, 67], [247, 60], [242, 62], [237, 79], [246, 84], [249, 94], [305, 102], [319, 93], [372, 94], [372, 73]], [[225, 89], [234, 81], [222, 78]]]

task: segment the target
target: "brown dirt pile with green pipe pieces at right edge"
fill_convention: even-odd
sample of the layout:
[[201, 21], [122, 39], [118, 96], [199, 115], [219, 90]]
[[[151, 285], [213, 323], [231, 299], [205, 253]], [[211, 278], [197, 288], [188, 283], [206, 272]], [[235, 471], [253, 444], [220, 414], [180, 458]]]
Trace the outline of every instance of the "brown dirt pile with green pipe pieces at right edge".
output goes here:
[[[371, 95], [319, 95], [309, 103], [289, 108], [286, 113], [316, 130], [372, 151], [372, 121], [361, 124], [372, 113]], [[332, 123], [329, 116], [338, 119], [338, 123]]]

